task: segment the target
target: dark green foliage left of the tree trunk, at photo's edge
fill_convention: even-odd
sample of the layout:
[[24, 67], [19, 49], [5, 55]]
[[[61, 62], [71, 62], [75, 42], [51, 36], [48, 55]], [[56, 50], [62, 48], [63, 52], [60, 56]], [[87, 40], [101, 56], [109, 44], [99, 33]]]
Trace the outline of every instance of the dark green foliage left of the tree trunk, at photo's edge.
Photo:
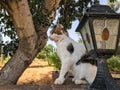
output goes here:
[[[0, 6], [0, 32], [4, 36], [8, 36], [12, 41], [1, 43], [1, 47], [3, 47], [4, 54], [7, 55], [8, 52], [15, 52], [18, 47], [18, 37], [15, 32], [15, 27], [13, 24], [12, 18], [9, 16], [7, 11], [5, 11]], [[1, 50], [0, 50], [1, 51]], [[3, 53], [3, 52], [1, 52]]]

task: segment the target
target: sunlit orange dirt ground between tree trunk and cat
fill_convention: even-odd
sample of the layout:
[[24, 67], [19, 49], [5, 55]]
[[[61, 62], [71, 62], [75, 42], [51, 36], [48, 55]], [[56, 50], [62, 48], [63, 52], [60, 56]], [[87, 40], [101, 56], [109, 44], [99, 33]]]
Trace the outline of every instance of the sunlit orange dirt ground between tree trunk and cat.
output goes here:
[[51, 83], [53, 67], [44, 60], [34, 60], [18, 80], [18, 85], [46, 85]]

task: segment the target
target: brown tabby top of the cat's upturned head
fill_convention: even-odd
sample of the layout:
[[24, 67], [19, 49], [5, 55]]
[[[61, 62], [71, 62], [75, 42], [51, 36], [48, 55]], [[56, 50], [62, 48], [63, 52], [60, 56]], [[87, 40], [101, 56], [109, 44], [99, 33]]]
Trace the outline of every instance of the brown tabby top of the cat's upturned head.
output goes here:
[[57, 34], [57, 35], [67, 35], [68, 36], [68, 33], [62, 28], [62, 25], [61, 24], [57, 24], [53, 30], [50, 32], [50, 34]]

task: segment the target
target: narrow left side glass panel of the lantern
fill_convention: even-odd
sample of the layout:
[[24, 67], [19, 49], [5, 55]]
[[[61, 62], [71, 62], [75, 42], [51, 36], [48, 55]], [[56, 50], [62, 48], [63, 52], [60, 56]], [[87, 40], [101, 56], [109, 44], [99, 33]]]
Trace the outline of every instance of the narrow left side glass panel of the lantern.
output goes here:
[[90, 33], [90, 27], [88, 21], [85, 23], [81, 30], [81, 35], [84, 40], [84, 43], [86, 45], [86, 49], [89, 52], [90, 50], [94, 49], [93, 42], [92, 42], [92, 36]]

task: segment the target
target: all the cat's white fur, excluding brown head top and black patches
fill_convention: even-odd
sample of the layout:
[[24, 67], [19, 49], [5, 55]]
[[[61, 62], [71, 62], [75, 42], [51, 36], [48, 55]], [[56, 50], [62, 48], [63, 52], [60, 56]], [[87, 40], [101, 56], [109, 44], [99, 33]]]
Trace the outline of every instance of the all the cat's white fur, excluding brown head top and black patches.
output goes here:
[[[89, 84], [94, 81], [97, 68], [89, 63], [80, 63], [76, 65], [76, 62], [86, 53], [86, 49], [83, 43], [77, 43], [70, 37], [63, 35], [52, 34], [50, 39], [56, 42], [57, 54], [61, 60], [61, 70], [59, 77], [55, 80], [55, 84], [63, 84], [64, 76], [70, 69], [73, 72], [74, 78], [72, 81], [75, 84], [86, 84], [86, 81], [81, 80], [85, 78]], [[72, 43], [74, 52], [71, 54], [67, 50], [67, 46]]]

